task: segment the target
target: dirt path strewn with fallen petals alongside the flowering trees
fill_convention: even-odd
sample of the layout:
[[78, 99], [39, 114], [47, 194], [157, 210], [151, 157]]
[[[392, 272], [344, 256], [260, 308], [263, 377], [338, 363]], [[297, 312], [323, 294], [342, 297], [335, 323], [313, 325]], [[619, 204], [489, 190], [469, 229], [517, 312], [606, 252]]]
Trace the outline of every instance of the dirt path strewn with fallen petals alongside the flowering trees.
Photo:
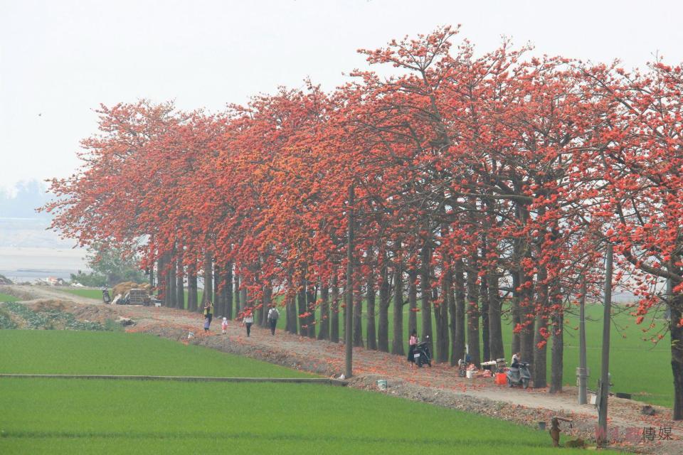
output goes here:
[[[254, 326], [250, 338], [244, 328], [230, 321], [227, 336], [220, 333], [220, 323], [214, 321], [211, 331], [203, 333], [203, 319], [187, 311], [144, 306], [111, 306], [101, 301], [75, 296], [48, 287], [4, 286], [0, 292], [18, 296], [24, 303], [35, 305], [41, 299], [66, 303], [65, 311], [78, 319], [105, 321], [122, 316], [136, 323], [129, 331], [156, 333], [184, 343], [196, 343], [272, 363], [307, 370], [328, 377], [344, 370], [344, 345], [304, 338], [277, 330]], [[280, 326], [284, 321], [280, 321]], [[194, 338], [188, 340], [188, 333]], [[351, 385], [377, 390], [375, 381], [386, 379], [384, 393], [411, 400], [432, 402], [467, 412], [486, 414], [499, 419], [512, 420], [536, 426], [549, 422], [554, 415], [574, 420], [574, 428], [567, 429], [576, 436], [594, 436], [597, 411], [593, 405], [578, 405], [576, 387], [566, 387], [562, 393], [551, 395], [546, 389], [521, 390], [494, 385], [491, 379], [466, 380], [457, 378], [455, 370], [446, 365], [433, 368], [408, 368], [403, 357], [374, 350], [354, 348], [354, 378]], [[657, 454], [683, 454], [683, 422], [671, 421], [671, 410], [655, 407], [657, 414], [649, 417], [640, 414], [642, 403], [610, 397], [610, 428], [617, 432], [615, 439], [635, 441], [635, 431], [654, 428], [655, 441], [639, 444], [640, 450]], [[658, 441], [661, 428], [671, 427], [674, 441]]]

